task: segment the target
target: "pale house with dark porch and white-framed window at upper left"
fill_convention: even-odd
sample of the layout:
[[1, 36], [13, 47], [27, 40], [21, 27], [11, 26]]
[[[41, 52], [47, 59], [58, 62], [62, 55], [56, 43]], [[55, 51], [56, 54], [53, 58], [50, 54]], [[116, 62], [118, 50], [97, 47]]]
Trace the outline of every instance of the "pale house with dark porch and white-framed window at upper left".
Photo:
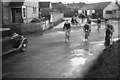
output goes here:
[[38, 1], [3, 2], [3, 23], [29, 23], [32, 19], [38, 18]]

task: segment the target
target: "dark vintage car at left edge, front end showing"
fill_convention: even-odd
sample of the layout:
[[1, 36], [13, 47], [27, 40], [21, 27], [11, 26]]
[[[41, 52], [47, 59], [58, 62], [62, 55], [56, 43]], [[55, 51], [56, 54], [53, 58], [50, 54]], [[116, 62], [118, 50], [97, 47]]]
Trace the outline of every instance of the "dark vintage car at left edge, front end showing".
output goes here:
[[25, 36], [13, 32], [10, 28], [0, 28], [2, 33], [2, 55], [15, 50], [26, 51], [28, 40]]

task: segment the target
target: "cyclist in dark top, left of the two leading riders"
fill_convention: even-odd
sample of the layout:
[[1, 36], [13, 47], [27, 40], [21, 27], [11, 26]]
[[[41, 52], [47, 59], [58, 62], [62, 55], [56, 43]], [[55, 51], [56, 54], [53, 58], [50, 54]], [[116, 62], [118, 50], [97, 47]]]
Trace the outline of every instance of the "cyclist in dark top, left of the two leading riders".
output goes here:
[[68, 20], [66, 20], [66, 23], [63, 26], [63, 31], [65, 30], [65, 41], [70, 38], [70, 31], [71, 31], [71, 25], [68, 22]]

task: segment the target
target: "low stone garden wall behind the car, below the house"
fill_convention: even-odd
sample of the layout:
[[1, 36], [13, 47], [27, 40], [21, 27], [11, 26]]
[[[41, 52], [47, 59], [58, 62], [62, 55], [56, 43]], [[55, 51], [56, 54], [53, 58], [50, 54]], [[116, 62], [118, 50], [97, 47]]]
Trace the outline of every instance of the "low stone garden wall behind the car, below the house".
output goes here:
[[12, 31], [18, 34], [32, 34], [37, 32], [42, 32], [41, 23], [21, 23], [21, 24], [12, 24], [5, 25], [6, 28], [11, 28]]

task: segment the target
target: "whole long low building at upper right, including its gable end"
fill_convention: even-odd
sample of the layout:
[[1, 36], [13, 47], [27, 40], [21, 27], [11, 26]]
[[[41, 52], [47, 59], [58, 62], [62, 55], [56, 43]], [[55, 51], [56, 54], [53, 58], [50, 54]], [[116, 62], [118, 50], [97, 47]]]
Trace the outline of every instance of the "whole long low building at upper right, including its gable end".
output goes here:
[[118, 6], [114, 2], [101, 2], [86, 4], [79, 9], [85, 15], [97, 15], [99, 17], [117, 18]]

